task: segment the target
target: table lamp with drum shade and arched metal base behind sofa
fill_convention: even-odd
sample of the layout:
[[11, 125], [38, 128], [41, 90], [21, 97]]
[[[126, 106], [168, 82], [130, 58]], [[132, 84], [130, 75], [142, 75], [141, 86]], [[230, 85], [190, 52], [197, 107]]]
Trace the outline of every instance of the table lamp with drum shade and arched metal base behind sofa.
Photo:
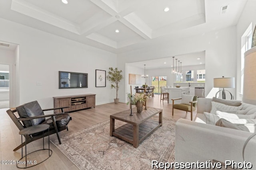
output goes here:
[[[217, 94], [222, 91], [222, 99], [226, 99], [226, 93], [225, 91], [229, 92], [228, 90], [224, 90], [224, 88], [235, 88], [235, 78], [234, 77], [224, 77], [222, 78], [214, 78], [213, 79], [213, 87], [215, 88], [223, 88], [223, 90], [219, 90], [216, 94], [215, 97], [217, 97]], [[231, 95], [231, 100], [234, 99], [234, 96], [230, 93]]]

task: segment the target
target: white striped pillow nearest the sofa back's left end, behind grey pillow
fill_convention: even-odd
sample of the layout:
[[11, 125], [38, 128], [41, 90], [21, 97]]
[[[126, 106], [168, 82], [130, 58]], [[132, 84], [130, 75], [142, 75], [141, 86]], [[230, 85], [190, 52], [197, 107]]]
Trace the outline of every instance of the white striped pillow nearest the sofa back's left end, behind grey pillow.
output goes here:
[[224, 117], [224, 116], [220, 116], [220, 115], [215, 115], [212, 113], [208, 113], [208, 112], [204, 112], [204, 117], [206, 118], [206, 123], [210, 124], [210, 125], [215, 125], [216, 122], [223, 118], [226, 119], [227, 121], [230, 121], [231, 123], [237, 123], [237, 124], [247, 124], [247, 123], [251, 123], [251, 124], [256, 124], [256, 119], [234, 119], [234, 118], [230, 118], [230, 117]]

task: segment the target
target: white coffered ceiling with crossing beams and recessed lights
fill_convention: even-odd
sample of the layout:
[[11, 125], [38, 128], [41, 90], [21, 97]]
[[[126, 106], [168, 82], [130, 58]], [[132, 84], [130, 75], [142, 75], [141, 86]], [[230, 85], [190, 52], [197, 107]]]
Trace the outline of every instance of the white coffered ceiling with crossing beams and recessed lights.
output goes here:
[[[0, 17], [113, 53], [236, 25], [246, 0], [1, 0]], [[225, 14], [222, 6], [228, 5]], [[164, 8], [169, 7], [168, 12]], [[2, 25], [3, 26], [3, 25]], [[119, 29], [119, 33], [115, 30]]]

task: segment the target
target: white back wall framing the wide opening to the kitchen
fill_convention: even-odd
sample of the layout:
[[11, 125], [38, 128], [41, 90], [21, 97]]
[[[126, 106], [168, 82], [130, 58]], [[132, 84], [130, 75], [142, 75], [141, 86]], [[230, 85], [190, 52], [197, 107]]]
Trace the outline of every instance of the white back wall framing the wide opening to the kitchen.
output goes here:
[[[188, 37], [186, 39], [170, 39], [158, 46], [129, 51], [118, 54], [118, 68], [125, 70], [126, 63], [152, 60], [186, 53], [206, 51], [205, 90], [208, 98], [215, 96], [218, 89], [213, 89], [213, 78], [236, 77], [236, 27], [215, 30], [204, 35]], [[149, 73], [149, 71], [148, 71]], [[121, 100], [126, 94], [126, 84], [120, 87]], [[235, 96], [235, 89], [228, 89]]]

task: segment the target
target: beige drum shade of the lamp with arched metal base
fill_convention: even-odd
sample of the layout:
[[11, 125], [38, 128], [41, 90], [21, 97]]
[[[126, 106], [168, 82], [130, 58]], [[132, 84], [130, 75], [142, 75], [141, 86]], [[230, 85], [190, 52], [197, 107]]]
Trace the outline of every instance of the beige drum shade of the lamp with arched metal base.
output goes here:
[[213, 87], [216, 88], [235, 88], [234, 77], [222, 77], [213, 79]]

